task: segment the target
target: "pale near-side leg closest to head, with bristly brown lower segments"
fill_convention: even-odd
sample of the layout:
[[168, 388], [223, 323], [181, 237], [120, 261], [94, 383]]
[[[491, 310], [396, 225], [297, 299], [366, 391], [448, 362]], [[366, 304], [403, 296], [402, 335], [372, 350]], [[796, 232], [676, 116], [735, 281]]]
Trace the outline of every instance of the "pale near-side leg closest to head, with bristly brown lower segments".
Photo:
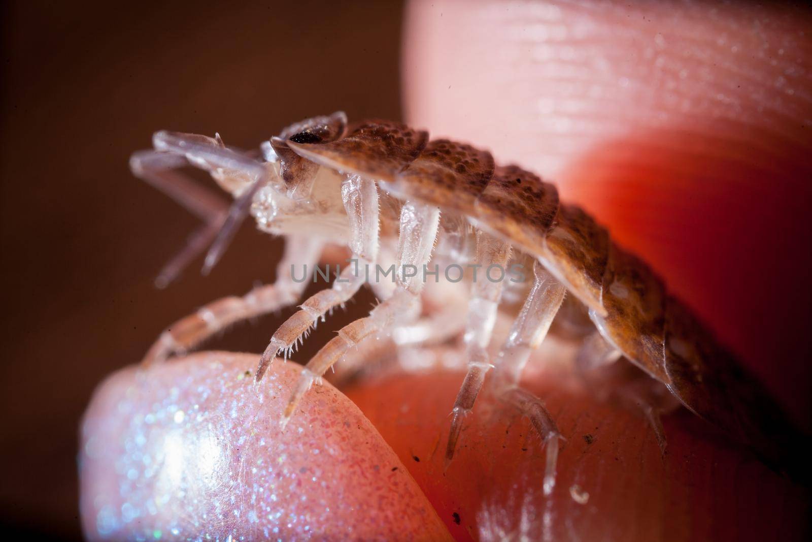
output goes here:
[[349, 175], [341, 185], [341, 197], [350, 223], [350, 250], [354, 264], [343, 269], [332, 288], [324, 289], [304, 301], [301, 310], [274, 332], [257, 366], [257, 373], [254, 375], [256, 382], [262, 379], [268, 364], [277, 353], [284, 351], [287, 358], [296, 342], [303, 338], [318, 319], [323, 320], [329, 310], [354, 296], [366, 282], [365, 271], [368, 266], [378, 261], [378, 188], [375, 181]]

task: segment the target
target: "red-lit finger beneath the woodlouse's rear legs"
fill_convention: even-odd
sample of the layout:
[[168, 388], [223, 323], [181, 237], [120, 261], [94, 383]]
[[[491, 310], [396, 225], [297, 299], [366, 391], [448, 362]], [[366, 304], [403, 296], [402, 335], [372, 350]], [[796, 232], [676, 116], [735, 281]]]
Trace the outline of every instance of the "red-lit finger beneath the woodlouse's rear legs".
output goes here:
[[462, 378], [438, 369], [380, 375], [346, 390], [455, 540], [807, 540], [804, 488], [687, 410], [663, 420], [663, 456], [639, 409], [617, 398], [596, 401], [578, 379], [549, 365], [525, 386], [544, 398], [566, 438], [550, 496], [542, 492], [538, 436], [516, 411], [487, 399], [464, 424], [446, 469], [442, 443]]

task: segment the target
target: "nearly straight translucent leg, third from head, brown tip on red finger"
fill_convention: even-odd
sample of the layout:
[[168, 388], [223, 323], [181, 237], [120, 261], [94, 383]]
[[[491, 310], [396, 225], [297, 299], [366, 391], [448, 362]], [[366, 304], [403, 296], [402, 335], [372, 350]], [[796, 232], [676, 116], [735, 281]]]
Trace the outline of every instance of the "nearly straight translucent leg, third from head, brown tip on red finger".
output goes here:
[[[496, 322], [496, 310], [502, 297], [504, 270], [508, 265], [510, 251], [510, 245], [507, 243], [477, 230], [477, 264], [481, 266], [481, 272], [471, 284], [471, 301], [463, 336], [469, 359], [468, 372], [451, 410], [451, 431], [446, 447], [447, 461], [454, 457], [454, 449], [460, 438], [464, 418], [473, 409], [482, 383], [485, 382], [485, 375], [492, 367], [486, 349], [490, 344], [490, 336]], [[498, 266], [502, 270], [502, 280], [490, 280], [488, 273], [491, 266]]]

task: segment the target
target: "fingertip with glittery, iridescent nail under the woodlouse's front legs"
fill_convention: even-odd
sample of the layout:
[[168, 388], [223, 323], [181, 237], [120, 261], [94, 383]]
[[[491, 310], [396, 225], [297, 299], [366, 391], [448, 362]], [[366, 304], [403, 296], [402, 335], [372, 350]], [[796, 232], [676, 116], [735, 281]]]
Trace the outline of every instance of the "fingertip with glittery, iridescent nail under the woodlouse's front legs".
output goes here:
[[301, 367], [278, 361], [255, 389], [256, 366], [253, 355], [198, 353], [102, 384], [81, 431], [91, 540], [451, 540], [347, 397], [313, 388], [281, 431]]

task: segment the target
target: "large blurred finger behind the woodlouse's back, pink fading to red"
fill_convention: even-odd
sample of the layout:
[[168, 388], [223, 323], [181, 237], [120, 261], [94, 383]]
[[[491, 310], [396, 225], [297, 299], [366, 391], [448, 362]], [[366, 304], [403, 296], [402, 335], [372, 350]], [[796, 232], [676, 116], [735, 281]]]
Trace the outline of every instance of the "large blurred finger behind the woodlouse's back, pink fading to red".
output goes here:
[[559, 186], [812, 427], [810, 11], [412, 2], [406, 120]]

